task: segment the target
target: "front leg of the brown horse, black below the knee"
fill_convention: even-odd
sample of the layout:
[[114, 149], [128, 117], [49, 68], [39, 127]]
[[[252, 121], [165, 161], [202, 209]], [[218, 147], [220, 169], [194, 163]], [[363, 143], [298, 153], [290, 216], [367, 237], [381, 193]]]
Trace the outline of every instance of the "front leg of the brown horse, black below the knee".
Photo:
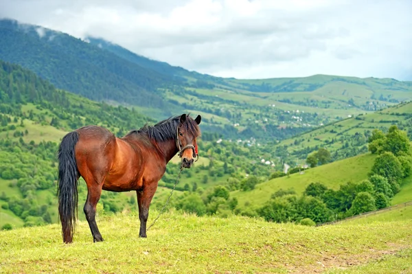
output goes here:
[[149, 183], [144, 187], [144, 190], [137, 191], [137, 204], [139, 205], [139, 219], [140, 219], [140, 231], [139, 237], [147, 238], [146, 235], [146, 223], [149, 217], [149, 207], [153, 196], [157, 190], [157, 182]]

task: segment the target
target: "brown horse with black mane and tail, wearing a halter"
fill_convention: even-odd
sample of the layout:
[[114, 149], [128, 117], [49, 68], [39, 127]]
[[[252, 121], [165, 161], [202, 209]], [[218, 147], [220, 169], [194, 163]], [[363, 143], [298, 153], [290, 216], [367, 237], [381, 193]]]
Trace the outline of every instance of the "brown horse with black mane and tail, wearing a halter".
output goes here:
[[183, 114], [132, 130], [122, 138], [100, 126], [84, 126], [65, 135], [58, 149], [58, 212], [63, 241], [73, 241], [80, 176], [87, 184], [84, 214], [94, 242], [103, 240], [95, 221], [102, 190], [137, 192], [139, 237], [147, 237], [150, 202], [166, 164], [178, 152], [183, 168], [190, 168], [198, 157], [198, 124], [201, 115], [192, 119]]

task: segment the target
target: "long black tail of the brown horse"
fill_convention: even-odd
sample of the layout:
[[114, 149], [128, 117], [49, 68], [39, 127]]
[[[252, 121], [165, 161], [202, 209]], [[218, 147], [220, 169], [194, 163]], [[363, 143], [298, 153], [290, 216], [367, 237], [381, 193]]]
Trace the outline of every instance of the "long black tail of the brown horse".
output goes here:
[[78, 208], [78, 167], [74, 146], [79, 140], [76, 131], [63, 137], [58, 148], [58, 214], [65, 243], [73, 239]]

